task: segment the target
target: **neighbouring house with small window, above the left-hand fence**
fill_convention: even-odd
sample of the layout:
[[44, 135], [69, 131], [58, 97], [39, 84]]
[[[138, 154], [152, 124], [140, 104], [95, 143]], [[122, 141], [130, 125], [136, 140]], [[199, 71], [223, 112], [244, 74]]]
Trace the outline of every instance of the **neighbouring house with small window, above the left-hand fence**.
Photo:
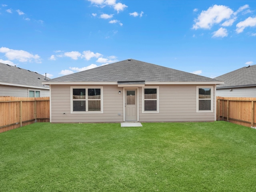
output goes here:
[[0, 63], [0, 96], [48, 97], [50, 88], [42, 81], [45, 76], [37, 72]]

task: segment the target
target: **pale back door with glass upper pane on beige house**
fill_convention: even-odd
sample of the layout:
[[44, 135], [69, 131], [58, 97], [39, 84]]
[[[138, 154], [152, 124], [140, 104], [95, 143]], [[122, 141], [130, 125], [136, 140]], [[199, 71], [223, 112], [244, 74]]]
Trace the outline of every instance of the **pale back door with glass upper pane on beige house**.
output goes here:
[[137, 89], [125, 89], [124, 120], [137, 121]]

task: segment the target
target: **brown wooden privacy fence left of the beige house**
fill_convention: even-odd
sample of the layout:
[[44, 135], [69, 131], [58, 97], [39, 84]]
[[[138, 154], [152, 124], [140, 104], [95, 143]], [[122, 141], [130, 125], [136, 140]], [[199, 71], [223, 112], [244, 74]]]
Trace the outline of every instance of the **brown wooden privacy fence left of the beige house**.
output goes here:
[[0, 97], [0, 133], [34, 122], [50, 122], [49, 97]]

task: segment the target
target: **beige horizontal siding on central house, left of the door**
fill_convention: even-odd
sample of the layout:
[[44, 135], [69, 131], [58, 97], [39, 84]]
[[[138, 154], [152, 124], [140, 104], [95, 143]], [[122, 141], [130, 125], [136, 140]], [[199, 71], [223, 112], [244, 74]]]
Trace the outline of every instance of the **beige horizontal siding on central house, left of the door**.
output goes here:
[[71, 114], [70, 85], [51, 85], [51, 88], [52, 122], [123, 122], [123, 95], [118, 93], [123, 89], [120, 87], [103, 86], [103, 113], [95, 114]]

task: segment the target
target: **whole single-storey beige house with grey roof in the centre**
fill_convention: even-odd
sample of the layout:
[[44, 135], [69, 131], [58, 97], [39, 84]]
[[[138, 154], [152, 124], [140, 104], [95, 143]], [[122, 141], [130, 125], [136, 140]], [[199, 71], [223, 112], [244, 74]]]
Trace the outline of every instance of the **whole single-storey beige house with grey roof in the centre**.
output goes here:
[[128, 59], [42, 83], [57, 123], [214, 121], [223, 82]]

